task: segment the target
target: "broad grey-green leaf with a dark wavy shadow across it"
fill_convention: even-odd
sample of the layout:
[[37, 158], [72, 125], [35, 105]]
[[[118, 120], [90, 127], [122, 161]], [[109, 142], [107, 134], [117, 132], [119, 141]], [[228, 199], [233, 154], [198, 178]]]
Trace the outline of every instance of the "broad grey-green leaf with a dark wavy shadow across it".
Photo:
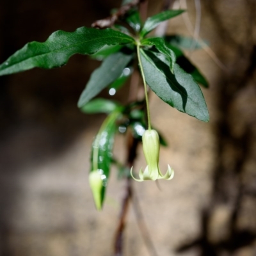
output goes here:
[[161, 53], [141, 49], [140, 54], [147, 84], [160, 99], [181, 112], [209, 121], [204, 95], [191, 75], [178, 64], [174, 65], [172, 74], [170, 63]]

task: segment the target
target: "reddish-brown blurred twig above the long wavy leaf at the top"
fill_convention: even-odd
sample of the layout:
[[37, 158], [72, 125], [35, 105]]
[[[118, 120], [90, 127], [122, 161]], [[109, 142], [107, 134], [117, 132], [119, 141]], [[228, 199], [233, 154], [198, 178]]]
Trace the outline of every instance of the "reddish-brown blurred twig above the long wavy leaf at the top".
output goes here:
[[120, 17], [123, 17], [125, 13], [129, 12], [131, 8], [137, 6], [140, 3], [143, 3], [145, 0], [133, 0], [129, 4], [125, 4], [124, 6], [121, 6], [117, 12], [113, 13], [111, 16], [102, 19], [102, 20], [96, 20], [93, 22], [92, 27], [93, 28], [110, 28], [115, 24], [116, 20], [118, 20]]

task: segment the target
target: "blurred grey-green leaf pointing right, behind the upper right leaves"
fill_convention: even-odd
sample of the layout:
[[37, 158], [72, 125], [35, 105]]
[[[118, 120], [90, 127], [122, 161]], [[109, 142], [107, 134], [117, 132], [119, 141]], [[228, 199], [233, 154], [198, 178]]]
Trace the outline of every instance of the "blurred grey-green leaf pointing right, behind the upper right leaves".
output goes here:
[[191, 49], [191, 47], [193, 47], [196, 50], [202, 48], [200, 42], [196, 41], [194, 38], [189, 36], [170, 35], [164, 36], [164, 40], [169, 44], [172, 44], [183, 49]]

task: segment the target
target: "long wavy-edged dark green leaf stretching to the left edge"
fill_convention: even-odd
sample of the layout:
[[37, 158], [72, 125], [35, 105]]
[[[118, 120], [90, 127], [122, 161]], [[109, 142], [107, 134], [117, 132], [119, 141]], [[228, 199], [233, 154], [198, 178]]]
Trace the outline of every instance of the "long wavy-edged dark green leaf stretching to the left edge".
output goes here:
[[131, 36], [113, 29], [78, 28], [74, 32], [56, 31], [44, 42], [31, 42], [0, 65], [0, 76], [34, 67], [61, 67], [76, 53], [93, 54], [104, 45], [129, 44]]

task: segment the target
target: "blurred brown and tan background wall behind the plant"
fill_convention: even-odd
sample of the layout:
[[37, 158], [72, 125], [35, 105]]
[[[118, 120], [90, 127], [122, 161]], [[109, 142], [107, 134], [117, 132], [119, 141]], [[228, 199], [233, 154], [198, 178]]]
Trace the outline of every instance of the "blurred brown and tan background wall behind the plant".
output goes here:
[[[161, 10], [149, 0], [148, 13]], [[159, 255], [256, 255], [256, 3], [202, 0], [200, 36], [227, 70], [204, 50], [187, 52], [210, 83], [211, 121], [204, 124], [152, 95], [152, 122], [170, 147], [161, 149], [175, 179], [135, 183]], [[0, 62], [26, 42], [58, 29], [74, 31], [108, 16], [114, 0], [0, 2]], [[195, 24], [195, 4], [188, 1]], [[188, 26], [188, 24], [187, 24]], [[182, 17], [168, 33], [189, 35]], [[73, 56], [60, 69], [0, 77], [0, 255], [111, 255], [124, 183], [116, 170], [103, 212], [94, 209], [87, 175], [90, 143], [104, 116], [76, 102], [98, 61]], [[105, 92], [106, 95], [106, 92]], [[115, 96], [125, 99], [120, 91]], [[124, 159], [125, 139], [115, 155]], [[139, 148], [136, 169], [145, 166]], [[149, 255], [132, 207], [125, 255]]]

